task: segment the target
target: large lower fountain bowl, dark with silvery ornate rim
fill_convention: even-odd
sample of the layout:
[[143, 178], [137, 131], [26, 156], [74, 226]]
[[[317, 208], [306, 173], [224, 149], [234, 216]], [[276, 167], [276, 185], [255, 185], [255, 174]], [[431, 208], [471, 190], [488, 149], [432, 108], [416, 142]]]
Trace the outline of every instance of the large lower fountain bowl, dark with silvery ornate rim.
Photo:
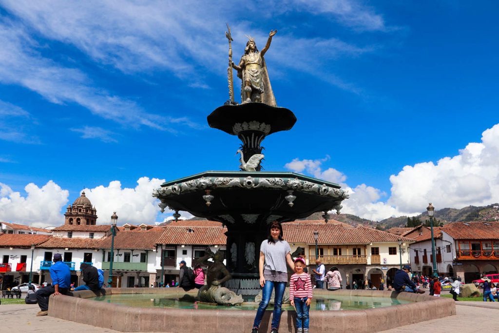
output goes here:
[[315, 212], [339, 211], [348, 198], [334, 183], [294, 172], [261, 171], [206, 171], [165, 182], [153, 196], [163, 209], [187, 211], [220, 221], [229, 229], [239, 223], [288, 222]]

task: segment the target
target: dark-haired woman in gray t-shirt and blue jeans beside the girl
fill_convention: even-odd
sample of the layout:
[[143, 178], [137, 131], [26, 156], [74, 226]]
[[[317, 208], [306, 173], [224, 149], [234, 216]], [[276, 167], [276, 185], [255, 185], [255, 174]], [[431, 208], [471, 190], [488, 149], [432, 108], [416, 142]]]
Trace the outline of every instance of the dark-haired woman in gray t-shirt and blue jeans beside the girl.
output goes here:
[[260, 286], [263, 288], [262, 297], [251, 333], [258, 333], [261, 319], [270, 301], [272, 290], [275, 290], [274, 311], [270, 333], [277, 333], [279, 329], [282, 297], [287, 284], [287, 265], [294, 270], [291, 259], [291, 248], [283, 239], [282, 226], [274, 221], [268, 228], [268, 239], [261, 242], [260, 246]]

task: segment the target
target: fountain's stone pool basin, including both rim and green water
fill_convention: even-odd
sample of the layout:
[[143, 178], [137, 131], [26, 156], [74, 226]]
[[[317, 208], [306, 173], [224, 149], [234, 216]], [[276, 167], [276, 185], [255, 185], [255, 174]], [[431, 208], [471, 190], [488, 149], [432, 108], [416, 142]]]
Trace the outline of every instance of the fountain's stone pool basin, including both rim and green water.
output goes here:
[[[248, 304], [251, 309], [206, 309], [204, 304], [194, 304], [196, 296], [197, 290], [184, 293], [179, 288], [85, 290], [74, 292], [73, 297], [50, 296], [48, 315], [121, 332], [249, 332], [256, 303]], [[456, 314], [452, 299], [410, 293], [314, 290], [314, 299], [310, 332], [330, 332], [331, 328], [335, 333], [379, 332]], [[336, 311], [320, 311], [324, 309]], [[296, 332], [295, 311], [288, 305], [283, 310], [279, 332]], [[263, 315], [261, 332], [270, 330], [271, 317], [269, 309]]]

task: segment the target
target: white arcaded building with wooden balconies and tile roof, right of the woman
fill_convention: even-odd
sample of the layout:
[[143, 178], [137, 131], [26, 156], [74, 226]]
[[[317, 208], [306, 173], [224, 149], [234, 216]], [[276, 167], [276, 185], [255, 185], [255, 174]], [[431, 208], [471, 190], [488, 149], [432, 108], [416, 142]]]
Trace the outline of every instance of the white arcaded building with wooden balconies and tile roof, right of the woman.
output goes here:
[[336, 267], [346, 281], [371, 280], [379, 287], [383, 279], [391, 284], [395, 271], [409, 264], [412, 239], [393, 235], [369, 227], [350, 225], [337, 221], [295, 221], [284, 223], [284, 239], [290, 243], [291, 251], [303, 248], [301, 255], [309, 269], [315, 268], [314, 231], [318, 232], [318, 257], [326, 270]]

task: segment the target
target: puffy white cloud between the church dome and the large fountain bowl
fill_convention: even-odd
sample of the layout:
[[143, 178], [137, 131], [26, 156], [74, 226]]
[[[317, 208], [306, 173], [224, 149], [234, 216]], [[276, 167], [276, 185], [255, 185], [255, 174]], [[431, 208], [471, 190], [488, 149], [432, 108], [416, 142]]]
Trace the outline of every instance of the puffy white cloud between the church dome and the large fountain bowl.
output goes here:
[[97, 224], [110, 222], [116, 212], [118, 223], [152, 224], [159, 212], [159, 201], [153, 198], [153, 190], [164, 183], [164, 179], [141, 177], [135, 188], [122, 188], [121, 182], [112, 181], [108, 186], [85, 189], [86, 197], [97, 209]]

